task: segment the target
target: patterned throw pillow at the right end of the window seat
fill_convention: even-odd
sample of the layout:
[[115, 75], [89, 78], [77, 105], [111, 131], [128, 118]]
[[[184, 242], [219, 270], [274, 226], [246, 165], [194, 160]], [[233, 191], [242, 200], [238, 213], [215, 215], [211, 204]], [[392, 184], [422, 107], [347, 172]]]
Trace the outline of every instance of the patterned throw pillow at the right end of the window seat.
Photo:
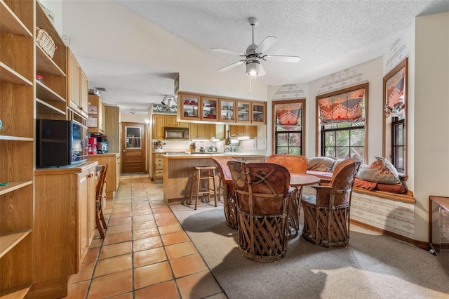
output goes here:
[[376, 161], [370, 166], [361, 166], [356, 177], [370, 182], [380, 182], [381, 184], [401, 184], [398, 171], [396, 171], [393, 164], [385, 158], [375, 158]]

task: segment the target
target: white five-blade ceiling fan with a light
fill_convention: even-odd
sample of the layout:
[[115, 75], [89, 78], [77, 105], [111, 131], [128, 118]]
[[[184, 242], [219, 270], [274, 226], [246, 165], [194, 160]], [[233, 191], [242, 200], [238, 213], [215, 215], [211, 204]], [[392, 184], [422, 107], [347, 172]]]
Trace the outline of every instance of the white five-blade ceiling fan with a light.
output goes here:
[[300, 61], [300, 58], [297, 56], [286, 56], [286, 55], [264, 55], [264, 51], [267, 51], [269, 47], [273, 46], [273, 44], [276, 42], [277, 37], [276, 36], [267, 36], [265, 39], [260, 43], [260, 45], [254, 44], [254, 26], [256, 26], [259, 21], [256, 18], [248, 18], [248, 22], [250, 23], [252, 29], [253, 29], [253, 43], [246, 48], [246, 53], [239, 53], [236, 51], [226, 50], [222, 48], [213, 48], [212, 51], [225, 53], [225, 54], [232, 54], [232, 55], [239, 55], [241, 56], [242, 60], [239, 60], [237, 62], [232, 63], [231, 65], [227, 65], [226, 67], [222, 67], [221, 69], [218, 69], [218, 72], [225, 72], [228, 69], [232, 69], [233, 67], [236, 67], [237, 65], [242, 65], [243, 63], [246, 64], [246, 74], [249, 76], [264, 76], [265, 71], [262, 65], [260, 64], [260, 60], [271, 60], [271, 61], [281, 61], [281, 62], [298, 62]]

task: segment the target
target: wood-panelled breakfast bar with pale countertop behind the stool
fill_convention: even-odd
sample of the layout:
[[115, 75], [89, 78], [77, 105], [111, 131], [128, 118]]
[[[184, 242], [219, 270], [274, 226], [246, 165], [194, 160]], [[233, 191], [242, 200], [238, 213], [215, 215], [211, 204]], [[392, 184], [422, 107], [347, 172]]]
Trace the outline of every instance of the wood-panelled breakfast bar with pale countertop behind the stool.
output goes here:
[[[163, 199], [168, 205], [182, 204], [189, 200], [194, 166], [213, 165], [213, 157], [232, 157], [236, 161], [264, 162], [266, 154], [201, 153], [164, 154]], [[218, 178], [217, 178], [218, 182]]]

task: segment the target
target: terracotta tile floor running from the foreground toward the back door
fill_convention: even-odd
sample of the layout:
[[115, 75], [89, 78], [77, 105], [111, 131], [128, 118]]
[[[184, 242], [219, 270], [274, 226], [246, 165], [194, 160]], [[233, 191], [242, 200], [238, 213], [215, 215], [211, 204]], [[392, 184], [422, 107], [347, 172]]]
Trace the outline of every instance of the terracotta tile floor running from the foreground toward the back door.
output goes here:
[[227, 298], [148, 175], [122, 175], [66, 298]]

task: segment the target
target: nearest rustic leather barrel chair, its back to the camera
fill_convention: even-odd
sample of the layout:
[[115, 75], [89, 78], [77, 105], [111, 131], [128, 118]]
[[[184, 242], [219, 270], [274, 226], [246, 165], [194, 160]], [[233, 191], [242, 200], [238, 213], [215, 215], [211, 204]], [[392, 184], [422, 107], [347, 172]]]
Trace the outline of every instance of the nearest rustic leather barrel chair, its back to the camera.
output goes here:
[[227, 164], [236, 186], [241, 254], [257, 262], [280, 260], [287, 252], [290, 173], [273, 163]]

